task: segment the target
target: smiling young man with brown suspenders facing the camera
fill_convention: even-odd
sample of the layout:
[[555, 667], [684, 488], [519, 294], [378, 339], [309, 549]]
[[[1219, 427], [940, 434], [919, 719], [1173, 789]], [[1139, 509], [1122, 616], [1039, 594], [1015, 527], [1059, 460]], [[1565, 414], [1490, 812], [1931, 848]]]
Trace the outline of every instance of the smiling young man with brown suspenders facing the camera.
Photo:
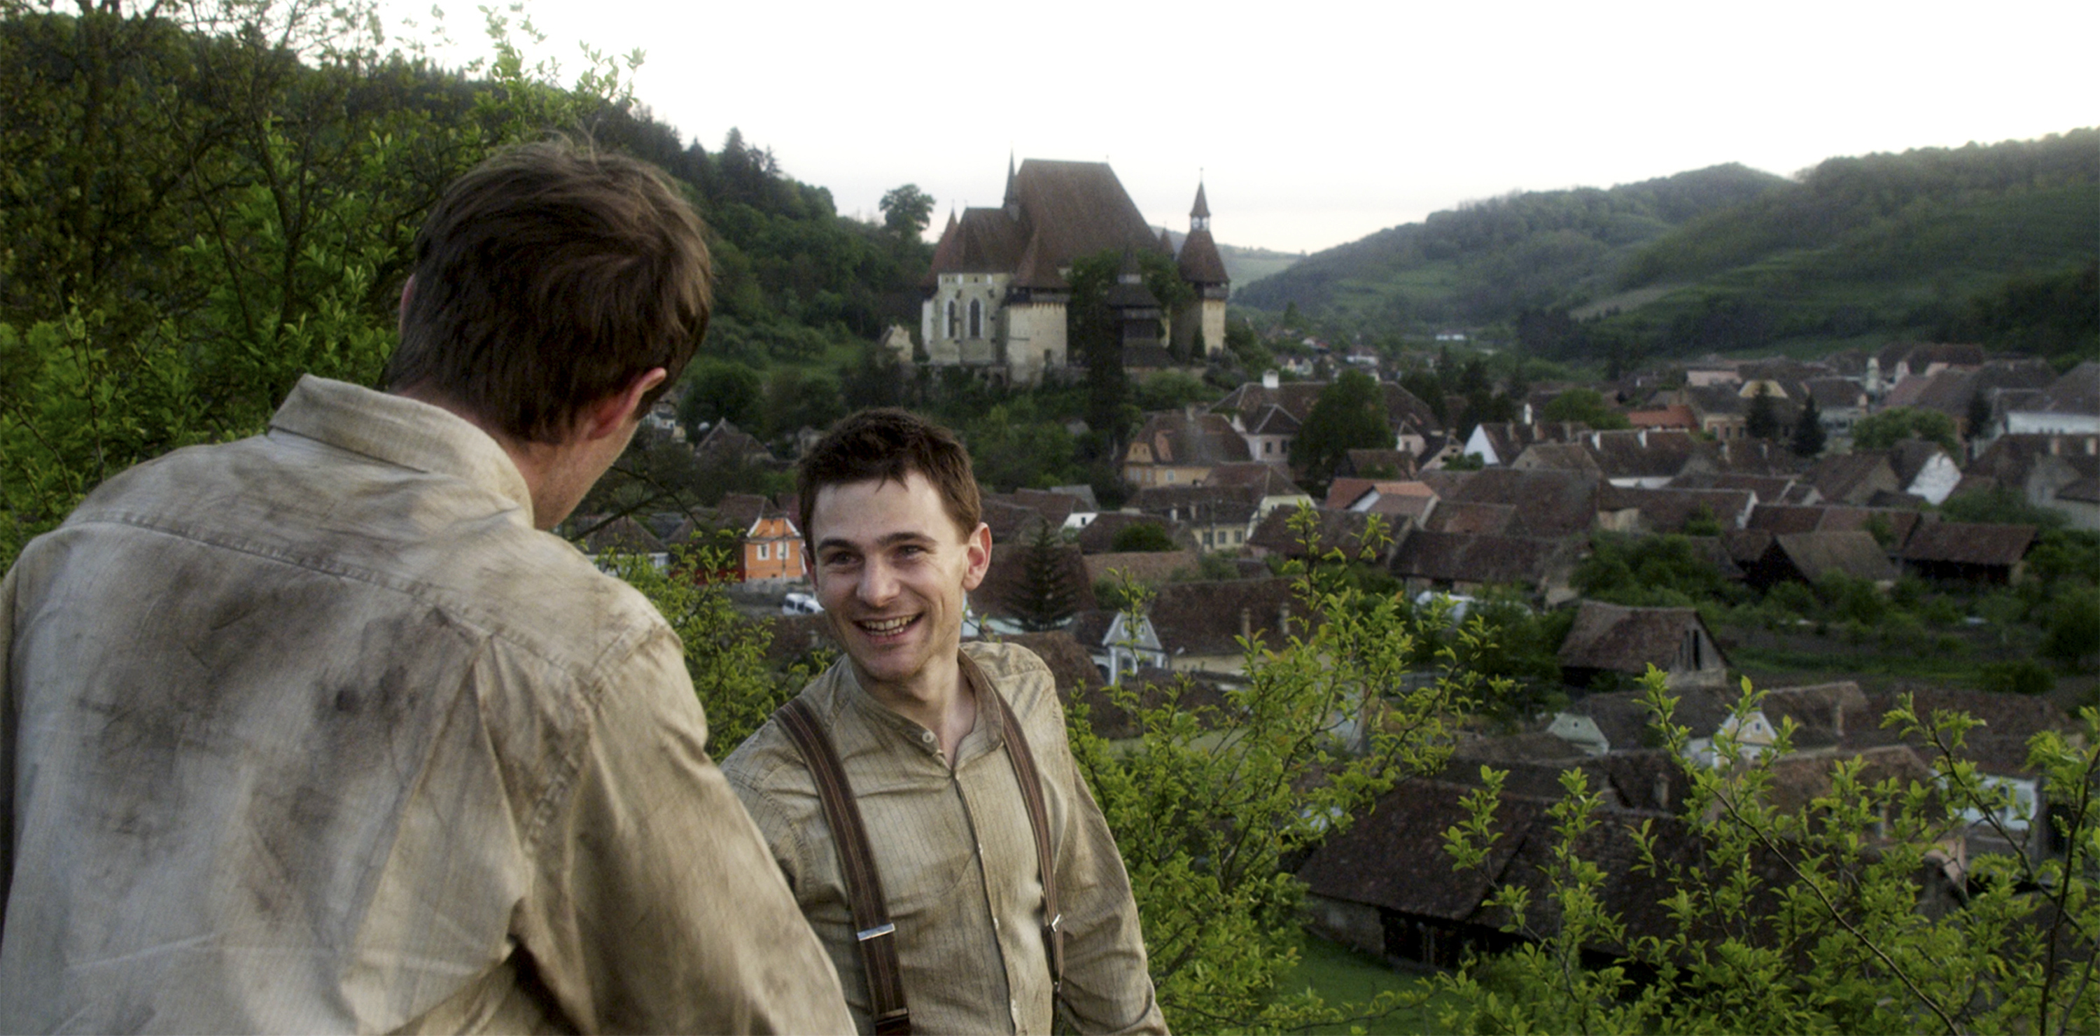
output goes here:
[[[914, 414], [869, 410], [834, 427], [798, 481], [846, 658], [722, 771], [838, 965], [855, 1023], [895, 1032], [907, 1011], [914, 1032], [1050, 1032], [1063, 1013], [1082, 1032], [1166, 1032], [1130, 878], [1050, 670], [1021, 647], [962, 643], [991, 565], [968, 452]], [[811, 752], [836, 757], [850, 820], [838, 801], [827, 811]], [[867, 885], [855, 895], [855, 826], [878, 914]]]

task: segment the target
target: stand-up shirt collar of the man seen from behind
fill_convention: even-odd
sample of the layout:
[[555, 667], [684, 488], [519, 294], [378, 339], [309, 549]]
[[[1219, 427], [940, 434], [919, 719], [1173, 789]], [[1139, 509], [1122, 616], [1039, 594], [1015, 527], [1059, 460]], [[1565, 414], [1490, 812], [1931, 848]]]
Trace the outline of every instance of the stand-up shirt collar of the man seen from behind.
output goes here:
[[531, 490], [510, 454], [449, 410], [307, 374], [269, 427], [412, 471], [452, 475], [512, 500], [531, 517]]

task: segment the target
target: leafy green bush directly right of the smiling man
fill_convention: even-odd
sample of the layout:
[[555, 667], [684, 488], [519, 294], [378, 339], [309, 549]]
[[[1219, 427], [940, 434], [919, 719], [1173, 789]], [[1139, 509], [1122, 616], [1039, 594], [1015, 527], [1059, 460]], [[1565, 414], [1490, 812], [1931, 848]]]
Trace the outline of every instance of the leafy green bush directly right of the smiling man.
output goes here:
[[[1294, 521], [1317, 538], [1310, 509]], [[1289, 643], [1250, 645], [1245, 681], [1224, 685], [1220, 704], [1197, 704], [1186, 677], [1144, 698], [1111, 687], [1142, 729], [1121, 744], [1094, 733], [1084, 700], [1069, 708], [1073, 759], [1130, 870], [1172, 1030], [1342, 1021], [1279, 988], [1300, 941], [1289, 862], [1394, 782], [1438, 769], [1451, 721], [1489, 693], [1466, 677], [1403, 683], [1420, 622], [1396, 597], [1357, 590], [1346, 561], [1331, 551], [1287, 565], [1292, 612], [1321, 620], [1294, 622]], [[1348, 1013], [1363, 1023], [1376, 1011]]]

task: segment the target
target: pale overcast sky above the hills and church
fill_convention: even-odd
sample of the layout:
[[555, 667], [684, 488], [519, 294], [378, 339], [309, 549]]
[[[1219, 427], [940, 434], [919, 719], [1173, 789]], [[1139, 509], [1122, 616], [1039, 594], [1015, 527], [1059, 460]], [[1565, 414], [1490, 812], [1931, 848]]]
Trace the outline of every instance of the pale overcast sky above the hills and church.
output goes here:
[[[388, 0], [428, 23], [428, 0]], [[485, 50], [443, 0], [454, 55]], [[647, 50], [636, 97], [737, 126], [878, 219], [995, 206], [1006, 156], [1107, 160], [1155, 225], [1317, 252], [1512, 189], [1959, 147], [2100, 124], [2100, 2], [1056, 4], [529, 0], [546, 55]], [[418, 32], [418, 29], [407, 29]]]

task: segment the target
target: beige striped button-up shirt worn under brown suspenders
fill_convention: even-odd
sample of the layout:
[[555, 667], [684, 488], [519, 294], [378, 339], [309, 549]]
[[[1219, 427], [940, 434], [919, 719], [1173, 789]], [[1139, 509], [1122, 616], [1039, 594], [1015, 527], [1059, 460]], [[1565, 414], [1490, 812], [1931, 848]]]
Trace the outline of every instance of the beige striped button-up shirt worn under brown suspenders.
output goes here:
[[[1058, 1007], [1082, 1032], [1166, 1032], [1130, 876], [1073, 765], [1050, 668], [1014, 645], [966, 643], [962, 651], [1006, 696], [1042, 771], [1067, 933]], [[811, 681], [802, 700], [830, 731], [861, 805], [897, 925], [911, 1030], [1050, 1032], [1035, 836], [1004, 750], [1000, 710], [976, 710], [949, 769], [932, 731], [869, 698], [846, 660]], [[779, 723], [766, 723], [722, 761], [722, 771], [838, 965], [855, 1023], [869, 1032], [867, 973], [838, 847], [802, 757]]]

